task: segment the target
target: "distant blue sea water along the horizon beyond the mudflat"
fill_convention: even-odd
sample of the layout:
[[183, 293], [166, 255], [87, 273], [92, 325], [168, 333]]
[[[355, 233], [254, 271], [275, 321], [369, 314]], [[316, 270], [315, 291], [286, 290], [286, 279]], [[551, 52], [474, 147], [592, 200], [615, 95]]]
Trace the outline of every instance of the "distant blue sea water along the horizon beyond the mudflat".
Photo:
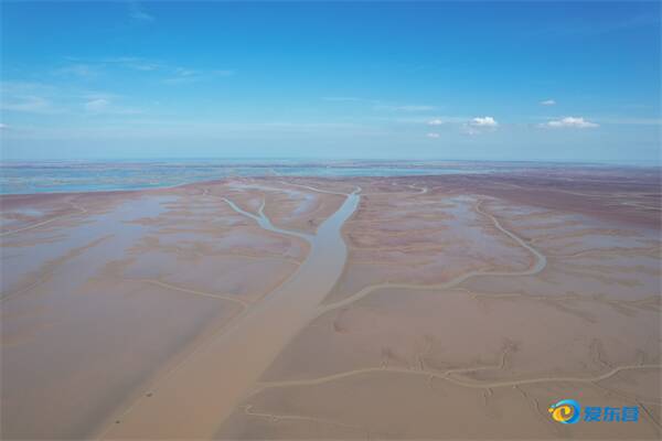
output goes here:
[[[549, 163], [526, 163], [541, 166]], [[0, 194], [167, 187], [231, 176], [407, 176], [506, 172], [522, 163], [264, 159], [0, 162]]]

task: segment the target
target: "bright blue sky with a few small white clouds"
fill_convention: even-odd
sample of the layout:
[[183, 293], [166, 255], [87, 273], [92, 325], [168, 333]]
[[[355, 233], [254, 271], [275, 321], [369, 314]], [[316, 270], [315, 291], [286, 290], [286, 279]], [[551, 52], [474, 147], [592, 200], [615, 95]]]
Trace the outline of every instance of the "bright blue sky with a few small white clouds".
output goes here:
[[661, 2], [2, 1], [2, 160], [661, 161]]

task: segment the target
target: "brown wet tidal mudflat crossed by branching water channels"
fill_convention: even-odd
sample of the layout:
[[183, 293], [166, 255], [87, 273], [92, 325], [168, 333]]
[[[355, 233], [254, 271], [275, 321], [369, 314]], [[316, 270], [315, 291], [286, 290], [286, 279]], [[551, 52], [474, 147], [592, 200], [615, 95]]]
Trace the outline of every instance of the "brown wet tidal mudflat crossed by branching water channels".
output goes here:
[[4, 439], [660, 438], [659, 175], [0, 203]]

